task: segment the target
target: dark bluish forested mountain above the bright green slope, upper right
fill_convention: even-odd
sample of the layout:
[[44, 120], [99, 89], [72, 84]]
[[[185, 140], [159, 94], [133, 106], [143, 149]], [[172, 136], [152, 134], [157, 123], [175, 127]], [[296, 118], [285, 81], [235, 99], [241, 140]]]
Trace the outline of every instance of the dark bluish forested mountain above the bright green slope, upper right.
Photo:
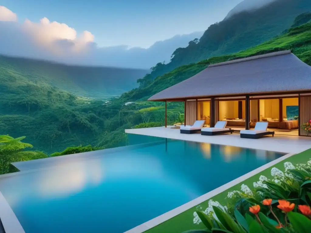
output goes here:
[[[248, 1], [248, 0], [246, 0]], [[311, 11], [310, 0], [275, 0], [253, 11], [243, 11], [208, 27], [199, 40], [177, 48], [168, 64], [158, 63], [139, 82], [146, 86], [157, 76], [210, 57], [251, 48], [290, 28], [296, 16]]]

